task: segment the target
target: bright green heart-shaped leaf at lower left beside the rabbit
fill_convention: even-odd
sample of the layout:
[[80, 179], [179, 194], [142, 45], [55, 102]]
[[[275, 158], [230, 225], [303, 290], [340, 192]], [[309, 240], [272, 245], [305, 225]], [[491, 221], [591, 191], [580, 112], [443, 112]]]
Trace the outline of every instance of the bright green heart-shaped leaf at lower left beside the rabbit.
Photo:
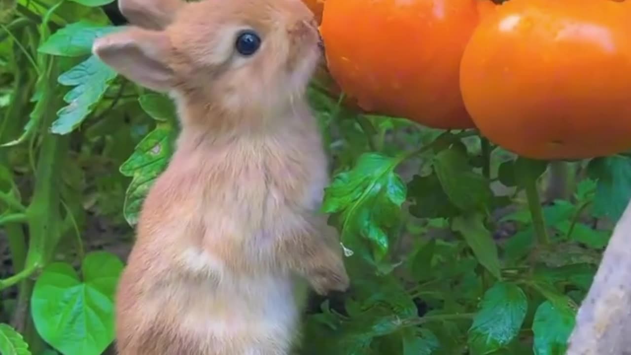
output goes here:
[[68, 263], [50, 263], [35, 282], [37, 332], [64, 355], [100, 355], [114, 340], [114, 292], [123, 263], [107, 252], [86, 255], [83, 281]]

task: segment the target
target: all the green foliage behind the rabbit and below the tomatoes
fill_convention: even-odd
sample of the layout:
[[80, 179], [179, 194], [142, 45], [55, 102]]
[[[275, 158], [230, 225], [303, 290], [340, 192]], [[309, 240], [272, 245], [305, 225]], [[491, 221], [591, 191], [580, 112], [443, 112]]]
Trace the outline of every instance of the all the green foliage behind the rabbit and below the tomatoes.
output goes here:
[[[91, 56], [115, 8], [0, 3], [3, 355], [112, 353], [117, 278], [178, 131], [170, 100]], [[323, 209], [352, 287], [312, 298], [300, 352], [563, 354], [631, 196], [628, 156], [523, 159], [324, 89], [309, 89], [333, 163]]]

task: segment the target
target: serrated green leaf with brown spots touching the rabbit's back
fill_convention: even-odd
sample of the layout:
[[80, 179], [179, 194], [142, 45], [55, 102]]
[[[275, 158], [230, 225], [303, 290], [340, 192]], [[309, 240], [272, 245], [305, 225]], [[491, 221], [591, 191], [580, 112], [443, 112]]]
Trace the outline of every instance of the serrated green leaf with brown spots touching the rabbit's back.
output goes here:
[[138, 214], [149, 189], [168, 165], [173, 153], [174, 129], [168, 123], [156, 128], [138, 143], [134, 152], [120, 167], [124, 176], [132, 178], [125, 194], [123, 214], [127, 223], [138, 223]]

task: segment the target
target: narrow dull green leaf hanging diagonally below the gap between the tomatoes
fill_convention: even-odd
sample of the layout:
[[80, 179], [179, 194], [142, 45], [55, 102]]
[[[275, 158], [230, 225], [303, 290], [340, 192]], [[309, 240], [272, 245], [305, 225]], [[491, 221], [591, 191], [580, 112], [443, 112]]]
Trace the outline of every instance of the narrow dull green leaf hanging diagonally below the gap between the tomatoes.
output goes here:
[[462, 234], [478, 262], [497, 279], [501, 279], [497, 245], [491, 232], [484, 226], [483, 218], [480, 214], [458, 216], [452, 221], [452, 229]]

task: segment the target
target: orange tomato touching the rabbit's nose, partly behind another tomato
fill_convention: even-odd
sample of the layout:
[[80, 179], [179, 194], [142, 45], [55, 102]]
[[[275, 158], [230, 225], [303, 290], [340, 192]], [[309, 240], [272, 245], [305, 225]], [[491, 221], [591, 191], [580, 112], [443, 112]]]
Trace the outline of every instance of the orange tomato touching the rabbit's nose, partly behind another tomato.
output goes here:
[[326, 0], [322, 39], [339, 87], [369, 112], [472, 128], [459, 89], [482, 0]]

